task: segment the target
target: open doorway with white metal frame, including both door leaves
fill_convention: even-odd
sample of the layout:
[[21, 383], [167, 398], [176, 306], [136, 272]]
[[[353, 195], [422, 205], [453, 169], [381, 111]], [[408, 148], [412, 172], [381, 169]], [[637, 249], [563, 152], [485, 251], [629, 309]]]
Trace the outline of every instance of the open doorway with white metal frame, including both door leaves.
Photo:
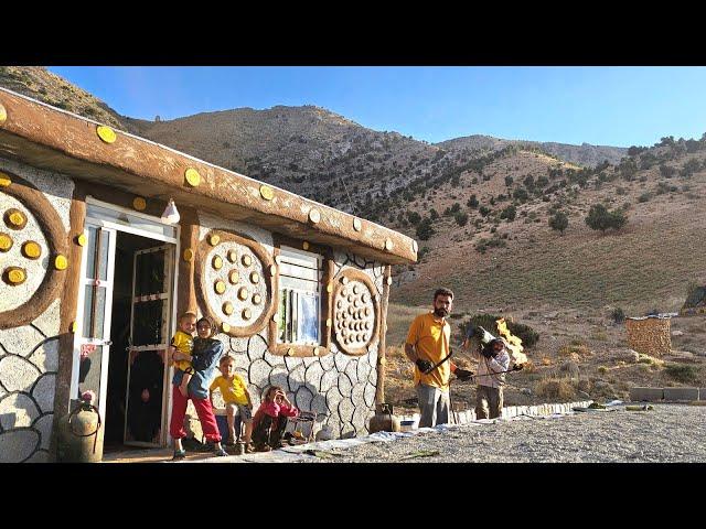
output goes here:
[[97, 407], [103, 449], [165, 446], [179, 229], [86, 203], [72, 398]]

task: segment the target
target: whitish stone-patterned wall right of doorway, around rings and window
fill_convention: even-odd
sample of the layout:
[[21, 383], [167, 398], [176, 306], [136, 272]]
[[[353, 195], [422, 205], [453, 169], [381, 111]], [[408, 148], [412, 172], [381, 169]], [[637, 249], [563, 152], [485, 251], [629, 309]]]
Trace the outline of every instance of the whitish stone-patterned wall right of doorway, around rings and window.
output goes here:
[[[272, 236], [267, 230], [204, 214], [199, 215], [199, 222], [200, 241], [212, 229], [232, 230], [255, 239], [272, 256]], [[334, 259], [336, 276], [345, 269], [363, 270], [375, 285], [374, 293], [383, 295], [384, 266], [381, 262], [341, 251], [334, 251]], [[333, 341], [329, 355], [297, 358], [268, 352], [267, 325], [249, 337], [218, 334], [216, 338], [235, 358], [236, 373], [247, 381], [255, 409], [264, 390], [277, 385], [285, 388], [297, 408], [317, 413], [317, 430], [325, 424], [338, 438], [367, 433], [368, 419], [375, 408], [377, 343], [365, 355], [350, 356], [340, 352]], [[201, 427], [191, 401], [186, 413], [185, 423], [196, 439], [201, 439]]]

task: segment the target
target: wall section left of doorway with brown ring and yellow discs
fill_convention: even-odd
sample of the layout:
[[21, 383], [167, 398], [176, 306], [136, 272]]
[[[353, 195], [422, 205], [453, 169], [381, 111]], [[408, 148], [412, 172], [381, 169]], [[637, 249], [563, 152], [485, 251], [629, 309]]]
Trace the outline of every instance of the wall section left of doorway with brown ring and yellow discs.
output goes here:
[[[0, 249], [0, 268], [7, 273], [17, 267], [26, 274], [17, 285], [0, 282], [0, 463], [46, 462], [61, 321], [54, 288], [66, 273], [56, 270], [53, 258], [65, 255], [74, 184], [3, 159], [0, 183], [0, 231], [11, 240]], [[24, 220], [15, 224], [20, 218], [9, 218], [10, 209]]]

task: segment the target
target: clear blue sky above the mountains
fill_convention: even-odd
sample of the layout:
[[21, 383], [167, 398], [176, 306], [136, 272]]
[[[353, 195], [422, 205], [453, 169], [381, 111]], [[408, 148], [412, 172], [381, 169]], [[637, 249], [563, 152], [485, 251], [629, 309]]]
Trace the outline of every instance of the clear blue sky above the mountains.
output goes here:
[[706, 67], [50, 67], [121, 115], [317, 105], [431, 143], [651, 145], [706, 132]]

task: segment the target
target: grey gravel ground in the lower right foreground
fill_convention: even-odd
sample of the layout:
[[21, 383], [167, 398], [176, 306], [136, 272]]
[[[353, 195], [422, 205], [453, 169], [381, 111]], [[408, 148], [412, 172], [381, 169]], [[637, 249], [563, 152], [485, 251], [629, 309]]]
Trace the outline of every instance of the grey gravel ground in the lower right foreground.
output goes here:
[[[438, 455], [420, 455], [437, 452]], [[706, 407], [654, 404], [654, 411], [587, 412], [462, 425], [389, 443], [333, 451], [321, 463], [673, 463], [706, 462]], [[324, 454], [325, 455], [325, 454]]]

